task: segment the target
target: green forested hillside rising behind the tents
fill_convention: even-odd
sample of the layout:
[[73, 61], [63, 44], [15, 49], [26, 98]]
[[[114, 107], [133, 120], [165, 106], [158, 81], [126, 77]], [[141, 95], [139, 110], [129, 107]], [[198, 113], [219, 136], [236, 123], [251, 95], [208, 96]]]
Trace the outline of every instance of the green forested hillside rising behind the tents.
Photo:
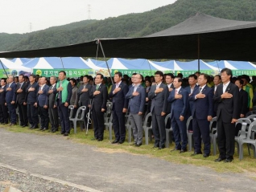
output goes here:
[[58, 47], [97, 38], [140, 37], [172, 27], [196, 12], [219, 18], [256, 21], [255, 7], [256, 0], [177, 0], [142, 14], [74, 22], [23, 35], [0, 34], [0, 51]]

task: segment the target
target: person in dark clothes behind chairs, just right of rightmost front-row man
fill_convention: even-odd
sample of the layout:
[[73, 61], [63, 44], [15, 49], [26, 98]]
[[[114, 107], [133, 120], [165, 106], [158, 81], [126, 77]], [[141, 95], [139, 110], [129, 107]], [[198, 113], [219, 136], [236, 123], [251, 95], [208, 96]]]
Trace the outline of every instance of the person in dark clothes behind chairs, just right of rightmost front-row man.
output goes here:
[[[238, 112], [239, 112], [239, 117], [240, 118], [244, 118], [246, 117], [246, 113], [248, 112], [248, 108], [247, 108], [247, 104], [248, 104], [248, 93], [243, 90], [243, 84], [244, 81], [243, 80], [236, 80], [235, 84], [237, 85], [237, 88], [239, 89], [239, 103], [238, 103]], [[235, 132], [235, 136], [237, 136], [239, 130], [242, 128], [242, 124], [237, 124], [236, 126], [236, 132]]]

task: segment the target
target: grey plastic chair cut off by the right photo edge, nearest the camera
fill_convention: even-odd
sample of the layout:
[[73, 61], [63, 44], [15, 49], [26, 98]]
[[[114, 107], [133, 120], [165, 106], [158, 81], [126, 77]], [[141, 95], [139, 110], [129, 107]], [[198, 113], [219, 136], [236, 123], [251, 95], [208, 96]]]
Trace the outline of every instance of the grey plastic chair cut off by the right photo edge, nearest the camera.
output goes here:
[[[244, 143], [246, 144], [250, 144], [250, 145], [253, 145], [254, 146], [254, 157], [256, 157], [256, 140], [254, 139], [251, 139], [250, 138], [250, 135], [252, 133], [252, 129], [256, 126], [256, 121], [252, 122], [248, 128], [248, 131], [247, 131], [247, 134], [246, 134], [246, 138], [244, 139], [240, 139], [238, 140], [238, 145], [239, 145], [239, 160], [242, 160], [243, 158], [243, 148], [242, 148], [242, 145]], [[250, 149], [250, 148], [249, 148]]]

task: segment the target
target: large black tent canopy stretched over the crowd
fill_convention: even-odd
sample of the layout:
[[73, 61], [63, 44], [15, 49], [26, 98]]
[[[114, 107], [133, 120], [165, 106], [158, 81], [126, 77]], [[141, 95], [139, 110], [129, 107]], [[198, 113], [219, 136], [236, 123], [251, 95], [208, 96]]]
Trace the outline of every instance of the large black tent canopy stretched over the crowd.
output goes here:
[[[144, 59], [230, 59], [256, 61], [256, 22], [196, 14], [180, 24], [142, 38], [98, 39], [106, 57]], [[97, 39], [87, 43], [30, 51], [1, 52], [1, 57], [95, 57]], [[200, 56], [199, 56], [200, 53]], [[102, 57], [101, 51], [98, 52]]]

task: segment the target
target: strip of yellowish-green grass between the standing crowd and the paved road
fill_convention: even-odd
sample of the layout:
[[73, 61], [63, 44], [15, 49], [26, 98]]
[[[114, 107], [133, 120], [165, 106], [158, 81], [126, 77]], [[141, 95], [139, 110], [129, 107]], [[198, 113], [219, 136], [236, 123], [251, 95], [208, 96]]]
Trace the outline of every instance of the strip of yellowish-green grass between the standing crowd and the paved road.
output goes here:
[[[60, 135], [60, 131], [57, 133], [50, 132], [41, 132], [39, 129], [28, 129], [21, 128], [19, 125], [15, 125], [9, 127], [7, 125], [3, 125], [2, 128], [7, 129], [14, 133], [31, 133], [38, 135], [58, 135], [59, 137], [63, 137]], [[32, 136], [31, 136], [32, 137]], [[196, 157], [192, 157], [192, 152], [182, 153], [180, 154], [178, 151], [171, 152], [171, 149], [174, 149], [174, 144], [172, 143], [168, 149], [153, 149], [153, 143], [151, 142], [149, 145], [142, 145], [140, 147], [135, 147], [131, 145], [132, 143], [128, 143], [127, 141], [122, 145], [113, 145], [111, 141], [109, 141], [109, 132], [105, 131], [104, 140], [92, 141], [93, 138], [93, 130], [89, 129], [88, 135], [85, 135], [85, 132], [82, 132], [80, 128], [77, 129], [77, 133], [72, 133], [68, 137], [63, 137], [64, 139], [69, 139], [77, 143], [85, 144], [85, 145], [93, 145], [96, 146], [96, 150], [99, 150], [103, 153], [131, 153], [134, 155], [147, 155], [148, 157], [160, 158], [166, 161], [171, 161], [175, 164], [186, 164], [186, 165], [197, 165], [209, 167], [217, 172], [231, 172], [231, 173], [246, 173], [250, 174], [252, 178], [256, 178], [256, 163], [253, 157], [253, 154], [249, 156], [247, 146], [244, 148], [244, 158], [242, 161], [239, 161], [237, 149], [235, 150], [234, 161], [231, 163], [225, 162], [214, 162], [214, 159], [218, 157], [210, 155], [207, 158], [202, 157], [202, 155], [197, 155]], [[113, 136], [114, 138], [114, 136]], [[143, 142], [144, 144], [144, 142]], [[251, 153], [253, 150], [251, 149]]]

